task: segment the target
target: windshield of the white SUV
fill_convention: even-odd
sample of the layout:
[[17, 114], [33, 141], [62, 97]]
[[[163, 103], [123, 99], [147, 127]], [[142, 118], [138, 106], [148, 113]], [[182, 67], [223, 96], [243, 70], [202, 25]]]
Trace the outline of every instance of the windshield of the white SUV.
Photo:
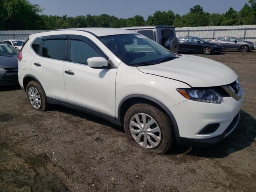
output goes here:
[[99, 37], [122, 62], [129, 66], [158, 64], [175, 58], [175, 54], [140, 34]]

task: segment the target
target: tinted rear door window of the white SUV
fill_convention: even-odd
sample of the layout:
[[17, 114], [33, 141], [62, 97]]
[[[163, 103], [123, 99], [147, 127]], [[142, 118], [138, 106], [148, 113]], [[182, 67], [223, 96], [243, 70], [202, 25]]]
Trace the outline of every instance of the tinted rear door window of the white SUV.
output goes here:
[[52, 59], [64, 60], [66, 40], [45, 40], [42, 48], [42, 56]]

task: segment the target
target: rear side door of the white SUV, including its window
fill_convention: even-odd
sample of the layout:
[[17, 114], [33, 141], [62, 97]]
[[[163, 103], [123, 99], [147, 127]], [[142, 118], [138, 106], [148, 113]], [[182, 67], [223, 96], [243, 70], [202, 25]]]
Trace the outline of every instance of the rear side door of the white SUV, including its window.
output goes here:
[[32, 74], [42, 84], [46, 96], [62, 102], [66, 102], [63, 69], [67, 42], [66, 35], [44, 37], [31, 65]]

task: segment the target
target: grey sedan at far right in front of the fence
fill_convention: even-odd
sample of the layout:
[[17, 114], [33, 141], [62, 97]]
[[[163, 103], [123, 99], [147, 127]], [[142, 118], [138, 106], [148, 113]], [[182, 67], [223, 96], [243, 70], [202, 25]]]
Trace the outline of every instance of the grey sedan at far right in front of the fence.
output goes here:
[[223, 50], [241, 50], [242, 52], [248, 52], [254, 50], [254, 43], [250, 41], [244, 41], [235, 37], [219, 37], [209, 42], [221, 44]]

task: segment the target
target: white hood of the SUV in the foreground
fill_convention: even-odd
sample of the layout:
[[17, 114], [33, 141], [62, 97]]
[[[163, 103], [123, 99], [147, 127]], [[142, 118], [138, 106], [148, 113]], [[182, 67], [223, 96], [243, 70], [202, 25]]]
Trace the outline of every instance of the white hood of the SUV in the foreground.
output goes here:
[[212, 87], [234, 82], [237, 75], [226, 65], [203, 57], [182, 55], [168, 62], [138, 66], [141, 72], [172, 78], [192, 87]]

